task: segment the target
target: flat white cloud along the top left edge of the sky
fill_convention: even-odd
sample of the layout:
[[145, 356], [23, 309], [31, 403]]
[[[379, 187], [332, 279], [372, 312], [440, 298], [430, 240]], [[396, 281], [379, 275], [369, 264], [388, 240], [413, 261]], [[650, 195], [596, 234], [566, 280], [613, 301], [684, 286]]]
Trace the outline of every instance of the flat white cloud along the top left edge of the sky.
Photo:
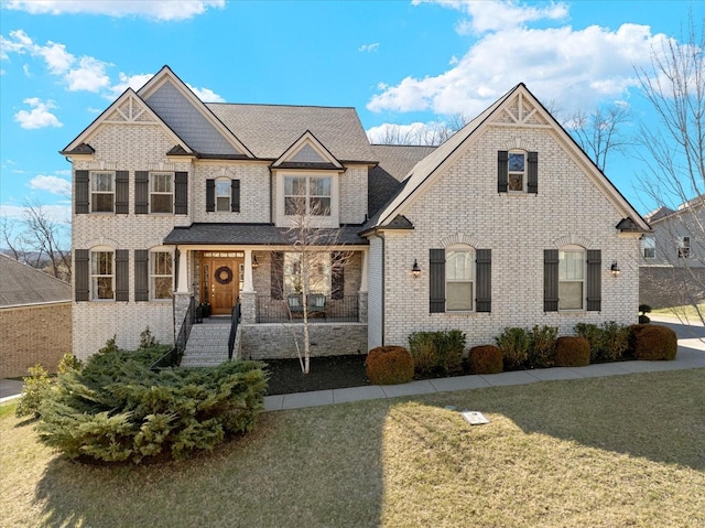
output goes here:
[[224, 8], [225, 0], [9, 0], [6, 7], [31, 14], [102, 14], [170, 21], [192, 19], [209, 8]]

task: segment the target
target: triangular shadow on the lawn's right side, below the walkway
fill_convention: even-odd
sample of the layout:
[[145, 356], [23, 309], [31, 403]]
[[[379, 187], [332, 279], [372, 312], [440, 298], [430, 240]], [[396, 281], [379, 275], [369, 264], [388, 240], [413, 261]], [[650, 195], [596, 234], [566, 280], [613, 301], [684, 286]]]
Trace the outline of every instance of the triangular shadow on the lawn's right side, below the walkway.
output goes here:
[[701, 368], [549, 381], [424, 401], [502, 414], [529, 434], [705, 471], [704, 376]]

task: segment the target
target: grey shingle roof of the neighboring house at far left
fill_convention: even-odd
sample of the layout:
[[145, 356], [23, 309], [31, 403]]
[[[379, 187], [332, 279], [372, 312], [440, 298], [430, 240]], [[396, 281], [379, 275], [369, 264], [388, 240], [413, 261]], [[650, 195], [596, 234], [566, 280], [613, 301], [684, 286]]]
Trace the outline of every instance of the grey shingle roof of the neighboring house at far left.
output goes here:
[[70, 284], [0, 255], [0, 306], [70, 301]]

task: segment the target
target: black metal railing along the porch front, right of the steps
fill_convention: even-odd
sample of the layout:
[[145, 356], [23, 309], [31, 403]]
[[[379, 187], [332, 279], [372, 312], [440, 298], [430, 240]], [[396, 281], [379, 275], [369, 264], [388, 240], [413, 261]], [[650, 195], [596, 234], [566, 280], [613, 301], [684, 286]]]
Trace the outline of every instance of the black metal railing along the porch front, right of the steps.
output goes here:
[[[272, 299], [269, 295], [257, 295], [258, 323], [301, 323], [303, 311], [293, 310], [286, 298]], [[310, 323], [357, 323], [359, 321], [359, 295], [345, 295], [343, 299], [325, 298], [325, 309], [312, 308]]]

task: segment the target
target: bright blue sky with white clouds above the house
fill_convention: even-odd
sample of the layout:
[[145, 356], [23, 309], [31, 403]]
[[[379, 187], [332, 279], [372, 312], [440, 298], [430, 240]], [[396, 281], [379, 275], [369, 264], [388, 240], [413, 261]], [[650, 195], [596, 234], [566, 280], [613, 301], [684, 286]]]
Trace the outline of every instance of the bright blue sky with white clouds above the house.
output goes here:
[[[564, 115], [629, 105], [636, 67], [702, 1], [0, 0], [0, 213], [70, 216], [57, 153], [167, 64], [206, 101], [347, 106], [386, 123], [475, 116], [523, 82]], [[626, 131], [636, 130], [637, 123]], [[237, 133], [237, 131], [235, 131]], [[633, 152], [607, 175], [641, 213]]]

